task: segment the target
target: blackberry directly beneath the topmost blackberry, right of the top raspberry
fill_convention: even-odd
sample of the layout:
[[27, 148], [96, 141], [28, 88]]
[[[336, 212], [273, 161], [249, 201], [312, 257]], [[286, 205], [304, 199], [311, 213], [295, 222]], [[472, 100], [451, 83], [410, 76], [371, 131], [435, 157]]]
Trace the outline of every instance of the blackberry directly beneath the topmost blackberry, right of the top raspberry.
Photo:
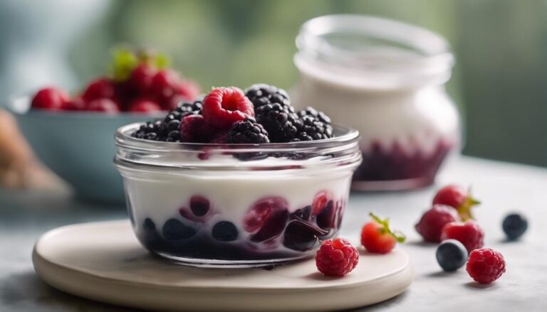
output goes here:
[[298, 115], [293, 107], [278, 103], [264, 104], [255, 109], [256, 122], [268, 131], [269, 139], [274, 143], [291, 141], [301, 127]]

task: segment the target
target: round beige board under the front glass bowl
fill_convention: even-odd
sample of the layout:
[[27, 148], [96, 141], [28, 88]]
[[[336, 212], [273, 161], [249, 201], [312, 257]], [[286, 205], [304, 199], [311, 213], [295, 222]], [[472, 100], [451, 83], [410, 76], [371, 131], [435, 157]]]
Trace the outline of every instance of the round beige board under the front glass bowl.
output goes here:
[[328, 311], [401, 294], [412, 283], [408, 255], [361, 252], [343, 278], [323, 276], [313, 259], [265, 269], [199, 269], [153, 257], [128, 221], [69, 225], [43, 235], [33, 263], [57, 289], [96, 301], [171, 311]]

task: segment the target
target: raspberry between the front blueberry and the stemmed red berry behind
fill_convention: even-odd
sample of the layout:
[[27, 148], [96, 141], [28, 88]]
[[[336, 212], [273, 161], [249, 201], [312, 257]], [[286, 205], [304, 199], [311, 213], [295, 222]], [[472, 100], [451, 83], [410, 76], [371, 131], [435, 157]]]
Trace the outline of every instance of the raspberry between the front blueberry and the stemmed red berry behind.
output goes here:
[[474, 221], [450, 222], [442, 228], [441, 240], [457, 240], [468, 252], [484, 246], [484, 232]]

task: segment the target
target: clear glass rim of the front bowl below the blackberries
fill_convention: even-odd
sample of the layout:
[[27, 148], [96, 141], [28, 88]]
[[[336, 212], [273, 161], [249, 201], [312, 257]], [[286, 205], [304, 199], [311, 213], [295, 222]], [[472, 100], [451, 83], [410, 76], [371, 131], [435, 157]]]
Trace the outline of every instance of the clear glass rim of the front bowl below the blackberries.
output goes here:
[[[359, 132], [333, 125], [330, 139], [269, 144], [201, 144], [137, 139], [130, 134], [143, 123], [127, 124], [115, 134], [114, 162], [135, 170], [335, 171], [361, 162]], [[174, 171], [171, 171], [173, 173]]]

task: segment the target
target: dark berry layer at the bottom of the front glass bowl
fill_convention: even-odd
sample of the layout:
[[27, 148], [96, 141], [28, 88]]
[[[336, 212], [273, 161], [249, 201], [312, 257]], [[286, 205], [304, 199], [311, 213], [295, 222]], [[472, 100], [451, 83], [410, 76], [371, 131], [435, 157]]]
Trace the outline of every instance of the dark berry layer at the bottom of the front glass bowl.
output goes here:
[[283, 198], [263, 198], [249, 208], [238, 227], [222, 220], [207, 198], [194, 195], [163, 224], [147, 217], [134, 226], [140, 242], [160, 254], [218, 260], [283, 259], [309, 253], [321, 240], [333, 237], [343, 206], [343, 200], [333, 200], [327, 191], [293, 213]]

